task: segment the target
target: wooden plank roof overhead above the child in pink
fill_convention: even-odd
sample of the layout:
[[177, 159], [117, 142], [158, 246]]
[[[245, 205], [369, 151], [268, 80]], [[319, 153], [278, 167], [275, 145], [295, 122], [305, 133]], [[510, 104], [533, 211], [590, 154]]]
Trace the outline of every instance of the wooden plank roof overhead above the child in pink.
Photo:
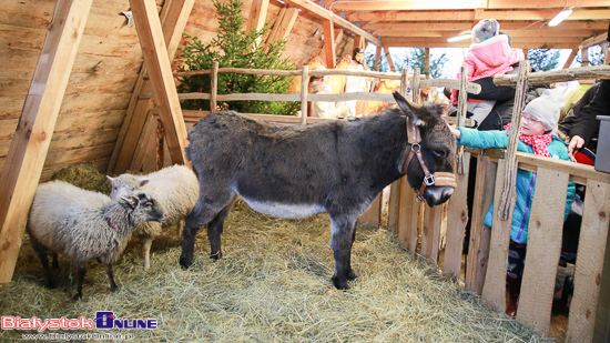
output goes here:
[[[602, 0], [325, 0], [324, 4], [379, 39], [383, 47], [468, 48], [469, 40], [449, 43], [447, 39], [494, 18], [512, 37], [515, 48], [577, 49], [582, 41], [604, 34], [610, 21], [610, 1]], [[565, 8], [572, 8], [572, 14], [549, 27]]]

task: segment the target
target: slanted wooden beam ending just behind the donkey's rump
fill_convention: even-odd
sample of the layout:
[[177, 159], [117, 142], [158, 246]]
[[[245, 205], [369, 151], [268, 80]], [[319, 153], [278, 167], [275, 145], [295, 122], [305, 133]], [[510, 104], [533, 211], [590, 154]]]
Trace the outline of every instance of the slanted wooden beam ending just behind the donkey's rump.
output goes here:
[[182, 118], [156, 4], [154, 0], [130, 0], [130, 4], [154, 98], [161, 108], [159, 117], [163, 123], [172, 162], [184, 164], [186, 162], [184, 154], [186, 128]]

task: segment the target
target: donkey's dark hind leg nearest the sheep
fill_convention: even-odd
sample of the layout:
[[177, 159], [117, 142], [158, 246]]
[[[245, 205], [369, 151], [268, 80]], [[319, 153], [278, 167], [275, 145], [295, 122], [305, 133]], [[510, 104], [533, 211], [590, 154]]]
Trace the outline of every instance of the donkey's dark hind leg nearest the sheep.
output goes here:
[[195, 248], [195, 236], [197, 232], [203, 225], [214, 219], [231, 200], [233, 200], [233, 194], [228, 192], [228, 189], [225, 193], [220, 195], [218, 192], [207, 194], [203, 188], [200, 189], [200, 198], [195, 203], [195, 208], [186, 218], [184, 225], [182, 254], [180, 255], [180, 265], [182, 265], [183, 269], [187, 269], [193, 264], [193, 250]]

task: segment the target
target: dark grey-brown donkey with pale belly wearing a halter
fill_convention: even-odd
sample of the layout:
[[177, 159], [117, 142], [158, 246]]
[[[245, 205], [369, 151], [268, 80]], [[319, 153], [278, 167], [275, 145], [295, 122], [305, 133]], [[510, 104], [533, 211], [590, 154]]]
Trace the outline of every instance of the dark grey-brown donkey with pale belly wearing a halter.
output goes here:
[[[200, 120], [186, 148], [200, 196], [186, 218], [182, 268], [193, 263], [195, 235], [206, 223], [210, 258], [221, 258], [223, 222], [238, 195], [275, 218], [329, 213], [333, 283], [349, 289], [347, 280], [356, 279], [350, 264], [356, 221], [386, 185], [407, 174], [430, 206], [454, 192], [456, 142], [440, 107], [416, 105], [397, 92], [394, 98], [399, 108], [352, 122], [283, 125], [232, 111]], [[407, 122], [416, 124], [408, 138]]]

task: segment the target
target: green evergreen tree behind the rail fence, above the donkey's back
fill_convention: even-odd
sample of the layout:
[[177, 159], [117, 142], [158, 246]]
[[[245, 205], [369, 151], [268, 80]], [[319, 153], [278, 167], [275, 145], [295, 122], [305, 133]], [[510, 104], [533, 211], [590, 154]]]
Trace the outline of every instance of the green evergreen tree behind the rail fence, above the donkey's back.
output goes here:
[[[268, 33], [270, 26], [262, 30], [244, 30], [245, 20], [242, 17], [243, 2], [227, 0], [222, 3], [213, 1], [218, 18], [218, 33], [210, 43], [204, 44], [196, 37], [190, 37], [185, 48], [180, 48], [184, 65], [179, 71], [210, 70], [213, 62], [218, 68], [251, 68], [271, 70], [293, 70], [294, 65], [287, 58], [282, 58], [286, 41], [271, 42], [266, 47], [257, 43]], [[286, 93], [293, 78], [275, 75], [254, 75], [237, 73], [218, 73], [217, 94], [235, 93]], [[211, 75], [192, 75], [180, 79], [180, 92], [211, 91]], [[299, 109], [298, 102], [277, 101], [231, 101], [221, 104], [243, 113], [270, 113], [294, 115]], [[210, 110], [207, 100], [184, 100], [185, 109]]]

